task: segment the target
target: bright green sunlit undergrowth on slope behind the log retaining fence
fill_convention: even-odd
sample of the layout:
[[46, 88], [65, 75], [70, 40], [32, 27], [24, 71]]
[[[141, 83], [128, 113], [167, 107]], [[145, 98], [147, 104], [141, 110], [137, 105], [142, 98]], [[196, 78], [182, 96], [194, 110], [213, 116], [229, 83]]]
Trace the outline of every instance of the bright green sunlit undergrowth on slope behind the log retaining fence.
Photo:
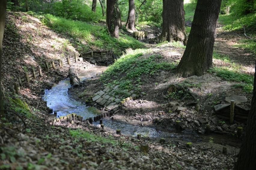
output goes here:
[[120, 56], [127, 48], [144, 48], [144, 43], [130, 37], [121, 31], [119, 39], [111, 37], [105, 25], [93, 25], [86, 22], [68, 20], [50, 14], [44, 15], [43, 22], [56, 33], [72, 39], [71, 44], [79, 52], [89, 50], [112, 50], [116, 56]]

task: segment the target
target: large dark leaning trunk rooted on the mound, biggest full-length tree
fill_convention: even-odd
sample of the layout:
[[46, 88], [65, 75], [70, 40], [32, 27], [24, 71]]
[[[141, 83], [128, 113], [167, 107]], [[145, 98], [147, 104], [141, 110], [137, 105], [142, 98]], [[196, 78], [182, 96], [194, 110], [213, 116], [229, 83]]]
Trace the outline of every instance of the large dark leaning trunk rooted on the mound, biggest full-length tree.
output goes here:
[[198, 0], [187, 47], [179, 62], [178, 77], [202, 76], [212, 67], [213, 45], [221, 0]]

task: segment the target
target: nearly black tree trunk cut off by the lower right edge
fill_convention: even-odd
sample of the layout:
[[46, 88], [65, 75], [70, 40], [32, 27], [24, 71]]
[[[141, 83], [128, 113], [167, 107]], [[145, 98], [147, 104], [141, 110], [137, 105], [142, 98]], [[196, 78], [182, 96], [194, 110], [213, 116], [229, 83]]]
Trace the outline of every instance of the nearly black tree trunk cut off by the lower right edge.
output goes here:
[[245, 136], [233, 170], [255, 170], [256, 167], [256, 62], [254, 73], [254, 87], [251, 99], [251, 110], [248, 116], [248, 124], [245, 128]]

